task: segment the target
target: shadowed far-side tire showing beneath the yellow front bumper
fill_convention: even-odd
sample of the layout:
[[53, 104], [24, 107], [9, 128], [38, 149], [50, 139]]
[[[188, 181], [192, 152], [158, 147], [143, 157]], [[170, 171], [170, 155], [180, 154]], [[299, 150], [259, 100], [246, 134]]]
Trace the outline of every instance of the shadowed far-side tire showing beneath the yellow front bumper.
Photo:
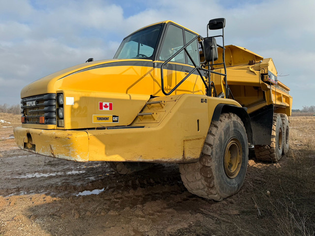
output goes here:
[[152, 167], [153, 163], [146, 162], [106, 162], [108, 167], [112, 169], [112, 171], [117, 172], [119, 174], [127, 175], [133, 172], [143, 171]]

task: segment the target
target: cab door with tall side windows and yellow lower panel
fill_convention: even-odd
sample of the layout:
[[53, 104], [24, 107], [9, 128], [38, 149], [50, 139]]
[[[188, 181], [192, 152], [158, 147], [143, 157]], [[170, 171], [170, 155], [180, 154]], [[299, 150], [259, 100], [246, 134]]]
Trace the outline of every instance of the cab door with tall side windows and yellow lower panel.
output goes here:
[[[155, 62], [157, 71], [156, 79], [158, 82], [163, 80], [164, 90], [166, 92], [171, 91], [178, 83], [180, 83], [186, 75], [194, 68], [193, 63], [187, 56], [185, 50], [181, 51], [177, 56], [171, 59], [163, 67], [163, 78], [161, 78], [160, 68], [164, 61], [171, 58], [176, 54], [183, 46], [196, 36], [195, 33], [188, 31], [182, 27], [179, 27], [173, 23], [168, 23], [163, 39], [161, 41], [161, 46], [158, 52], [157, 61]], [[195, 39], [187, 47], [187, 51], [194, 60], [194, 62], [199, 65], [199, 51], [198, 51], [198, 41]], [[162, 95], [161, 83], [155, 87], [155, 92], [157, 95]], [[193, 72], [175, 91], [174, 94], [181, 93], [196, 93], [205, 94], [205, 87], [200, 79], [197, 71]]]

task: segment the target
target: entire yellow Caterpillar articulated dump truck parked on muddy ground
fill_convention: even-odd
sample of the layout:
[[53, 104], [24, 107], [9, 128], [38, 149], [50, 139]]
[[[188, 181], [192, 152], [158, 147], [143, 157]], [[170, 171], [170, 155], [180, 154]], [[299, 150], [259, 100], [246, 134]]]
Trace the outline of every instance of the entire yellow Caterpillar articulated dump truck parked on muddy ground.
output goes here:
[[17, 145], [105, 161], [121, 174], [178, 163], [189, 192], [216, 201], [235, 194], [249, 145], [262, 161], [287, 152], [292, 97], [271, 58], [224, 45], [224, 26], [210, 20], [202, 37], [159, 22], [127, 36], [114, 59], [91, 58], [27, 85]]

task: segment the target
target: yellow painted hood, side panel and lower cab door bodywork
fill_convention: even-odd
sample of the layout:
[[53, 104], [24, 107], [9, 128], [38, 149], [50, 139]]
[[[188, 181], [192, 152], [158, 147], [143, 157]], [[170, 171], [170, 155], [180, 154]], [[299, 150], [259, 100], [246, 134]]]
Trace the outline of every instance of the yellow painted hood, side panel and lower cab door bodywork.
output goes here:
[[[139, 66], [106, 66], [108, 63], [124, 61], [138, 62]], [[150, 62], [152, 66], [141, 66], [143, 61]], [[104, 67], [77, 72], [96, 65]], [[101, 124], [93, 122], [93, 115], [119, 116], [119, 125], [129, 125], [149, 100], [151, 94], [163, 96], [160, 86], [160, 69], [153, 67], [152, 60], [113, 59], [85, 63], [81, 66], [81, 68], [74, 66], [56, 72], [22, 89], [21, 97], [51, 92], [63, 93], [64, 100], [65, 97], [73, 97], [74, 105], [64, 105], [63, 108], [64, 126], [52, 128], [101, 127]], [[167, 69], [164, 70], [164, 75], [166, 91], [170, 91], [186, 76], [185, 72]], [[205, 87], [197, 75], [191, 75], [174, 93], [205, 94]], [[100, 111], [99, 102], [112, 102], [113, 111]], [[117, 123], [108, 123], [108, 125], [114, 126]], [[23, 124], [22, 126], [37, 127], [38, 125]]]

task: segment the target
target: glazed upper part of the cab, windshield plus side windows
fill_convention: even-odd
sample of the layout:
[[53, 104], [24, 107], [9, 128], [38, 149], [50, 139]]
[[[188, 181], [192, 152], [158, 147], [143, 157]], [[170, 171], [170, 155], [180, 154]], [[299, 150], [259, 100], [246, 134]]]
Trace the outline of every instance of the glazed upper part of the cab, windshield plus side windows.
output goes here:
[[[124, 38], [114, 59], [150, 59], [165, 61], [177, 53], [191, 39], [198, 36], [171, 21], [158, 23], [130, 34]], [[187, 48], [196, 64], [200, 63], [198, 38]], [[184, 51], [171, 59], [173, 62], [193, 65]]]

